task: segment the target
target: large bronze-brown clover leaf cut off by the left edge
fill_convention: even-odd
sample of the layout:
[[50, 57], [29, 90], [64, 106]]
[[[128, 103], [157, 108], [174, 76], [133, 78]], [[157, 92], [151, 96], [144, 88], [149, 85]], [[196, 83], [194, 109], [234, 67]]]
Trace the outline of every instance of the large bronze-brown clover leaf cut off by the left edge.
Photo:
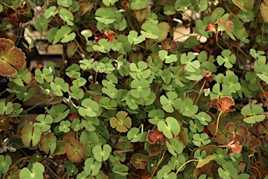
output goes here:
[[[24, 69], [26, 57], [21, 49], [16, 48], [13, 41], [0, 38], [0, 75], [13, 76], [17, 73], [16, 69]], [[15, 68], [13, 66], [15, 66]]]

